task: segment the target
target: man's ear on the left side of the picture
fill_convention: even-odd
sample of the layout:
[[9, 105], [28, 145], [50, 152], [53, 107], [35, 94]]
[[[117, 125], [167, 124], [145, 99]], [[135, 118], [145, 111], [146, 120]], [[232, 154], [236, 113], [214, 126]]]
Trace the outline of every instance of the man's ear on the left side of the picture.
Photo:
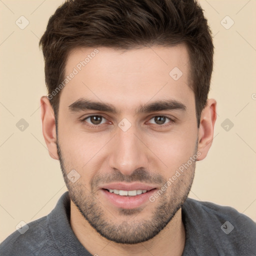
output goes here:
[[56, 125], [54, 111], [51, 107], [49, 99], [46, 96], [40, 98], [41, 105], [41, 121], [42, 134], [48, 148], [50, 157], [58, 160], [57, 145], [56, 145]]

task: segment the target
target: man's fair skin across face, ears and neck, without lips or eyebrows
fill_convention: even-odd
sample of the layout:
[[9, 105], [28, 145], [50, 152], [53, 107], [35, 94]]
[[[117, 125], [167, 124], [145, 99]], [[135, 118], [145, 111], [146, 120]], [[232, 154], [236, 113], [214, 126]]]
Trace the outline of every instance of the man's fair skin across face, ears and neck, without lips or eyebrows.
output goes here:
[[[72, 50], [65, 74], [93, 49]], [[181, 255], [185, 244], [181, 205], [193, 181], [195, 161], [158, 198], [135, 209], [112, 205], [100, 185], [141, 181], [161, 189], [196, 152], [197, 160], [205, 158], [213, 139], [216, 101], [207, 100], [197, 128], [194, 93], [188, 86], [189, 57], [183, 44], [97, 49], [60, 92], [57, 134], [49, 100], [40, 99], [43, 136], [50, 156], [60, 160], [71, 197], [71, 228], [92, 255]], [[183, 73], [178, 80], [169, 75], [175, 66]], [[119, 113], [69, 111], [68, 106], [81, 97], [112, 104]], [[135, 114], [140, 104], [160, 99], [178, 100], [186, 110]], [[81, 121], [92, 114], [104, 117], [100, 124], [90, 118]], [[174, 121], [157, 122], [154, 117], [162, 114]], [[123, 118], [131, 124], [126, 131], [118, 126]], [[80, 175], [74, 183], [66, 176], [72, 169]]]

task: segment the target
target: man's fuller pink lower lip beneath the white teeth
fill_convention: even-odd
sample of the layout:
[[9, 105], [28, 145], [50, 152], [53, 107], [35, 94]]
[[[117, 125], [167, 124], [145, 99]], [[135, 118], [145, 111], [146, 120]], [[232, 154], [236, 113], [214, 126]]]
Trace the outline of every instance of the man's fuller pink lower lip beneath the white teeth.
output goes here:
[[151, 189], [145, 193], [137, 194], [134, 196], [129, 195], [119, 195], [115, 193], [110, 193], [106, 189], [100, 189], [104, 196], [113, 205], [119, 208], [132, 209], [141, 206], [145, 202], [149, 202], [149, 197], [155, 192], [156, 188]]

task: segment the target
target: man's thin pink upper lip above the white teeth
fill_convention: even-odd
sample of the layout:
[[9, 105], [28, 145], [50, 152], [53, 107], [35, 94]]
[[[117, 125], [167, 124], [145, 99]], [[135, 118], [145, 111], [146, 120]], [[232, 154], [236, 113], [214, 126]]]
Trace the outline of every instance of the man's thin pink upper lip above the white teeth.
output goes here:
[[136, 183], [122, 183], [122, 182], [115, 182], [115, 183], [110, 183], [110, 184], [106, 184], [106, 185], [102, 185], [101, 188], [105, 188], [105, 189], [117, 189], [117, 190], [151, 190], [153, 188], [156, 188], [153, 185], [149, 185], [149, 184], [145, 184], [145, 183], [140, 183], [140, 182], [136, 182]]

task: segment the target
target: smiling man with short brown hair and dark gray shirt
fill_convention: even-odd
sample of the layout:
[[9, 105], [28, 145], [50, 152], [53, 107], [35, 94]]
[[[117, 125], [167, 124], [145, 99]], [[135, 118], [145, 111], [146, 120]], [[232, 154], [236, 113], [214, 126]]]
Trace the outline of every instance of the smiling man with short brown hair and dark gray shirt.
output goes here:
[[187, 198], [213, 139], [194, 0], [67, 0], [40, 40], [42, 131], [68, 188], [0, 255], [256, 255], [256, 224]]

